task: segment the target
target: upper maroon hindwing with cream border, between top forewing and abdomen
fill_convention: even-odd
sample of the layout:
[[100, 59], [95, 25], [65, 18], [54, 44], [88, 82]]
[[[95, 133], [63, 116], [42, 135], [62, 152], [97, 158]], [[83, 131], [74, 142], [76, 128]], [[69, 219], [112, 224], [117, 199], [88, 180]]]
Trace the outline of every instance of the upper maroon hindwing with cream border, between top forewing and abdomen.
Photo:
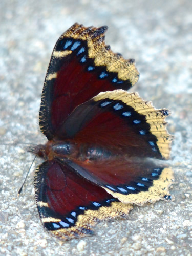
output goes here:
[[168, 114], [143, 101], [138, 93], [99, 93], [73, 111], [56, 139], [72, 138], [129, 157], [168, 159], [172, 141], [166, 130]]

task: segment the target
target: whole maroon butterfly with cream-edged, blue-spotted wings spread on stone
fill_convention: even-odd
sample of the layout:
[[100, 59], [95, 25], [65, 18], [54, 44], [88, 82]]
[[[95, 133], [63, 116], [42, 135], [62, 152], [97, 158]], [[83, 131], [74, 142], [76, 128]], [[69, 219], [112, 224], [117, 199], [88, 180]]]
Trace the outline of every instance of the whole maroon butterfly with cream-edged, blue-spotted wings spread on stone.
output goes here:
[[93, 233], [97, 220], [126, 216], [132, 204], [170, 199], [173, 173], [153, 159], [168, 159], [172, 136], [166, 109], [138, 93], [133, 59], [105, 45], [107, 27], [75, 23], [53, 49], [39, 111], [45, 161], [34, 174], [43, 225], [62, 239]]

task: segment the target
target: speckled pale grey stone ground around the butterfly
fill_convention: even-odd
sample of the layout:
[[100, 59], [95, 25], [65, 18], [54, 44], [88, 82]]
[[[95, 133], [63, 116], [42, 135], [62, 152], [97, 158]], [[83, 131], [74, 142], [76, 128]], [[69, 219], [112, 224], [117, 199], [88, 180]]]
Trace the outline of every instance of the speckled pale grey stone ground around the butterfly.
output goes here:
[[[106, 42], [135, 58], [132, 91], [168, 108], [174, 134], [175, 200], [135, 206], [127, 219], [99, 223], [95, 236], [62, 242], [42, 228], [25, 145], [0, 145], [0, 255], [192, 255], [192, 2], [0, 2], [0, 142], [44, 142], [38, 127], [42, 84], [53, 46], [74, 22], [108, 25]], [[36, 161], [35, 165], [39, 163]], [[34, 165], [34, 167], [35, 167]]]

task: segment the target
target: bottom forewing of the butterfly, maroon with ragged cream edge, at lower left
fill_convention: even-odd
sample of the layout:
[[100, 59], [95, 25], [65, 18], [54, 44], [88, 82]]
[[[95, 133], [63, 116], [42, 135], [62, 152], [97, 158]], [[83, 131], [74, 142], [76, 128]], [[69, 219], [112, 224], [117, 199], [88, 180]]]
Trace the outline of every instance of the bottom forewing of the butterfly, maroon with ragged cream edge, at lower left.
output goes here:
[[123, 217], [132, 209], [69, 165], [54, 160], [38, 166], [34, 186], [42, 223], [62, 239], [90, 235], [96, 220]]

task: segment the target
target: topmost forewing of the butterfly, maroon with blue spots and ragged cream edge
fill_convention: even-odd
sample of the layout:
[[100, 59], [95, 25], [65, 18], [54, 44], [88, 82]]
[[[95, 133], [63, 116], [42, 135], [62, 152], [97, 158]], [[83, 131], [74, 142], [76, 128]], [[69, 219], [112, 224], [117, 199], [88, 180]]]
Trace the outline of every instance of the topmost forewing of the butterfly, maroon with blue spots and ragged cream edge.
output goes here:
[[79, 104], [102, 91], [128, 90], [137, 82], [134, 60], [105, 45], [106, 29], [75, 23], [56, 42], [39, 112], [40, 129], [49, 140]]

